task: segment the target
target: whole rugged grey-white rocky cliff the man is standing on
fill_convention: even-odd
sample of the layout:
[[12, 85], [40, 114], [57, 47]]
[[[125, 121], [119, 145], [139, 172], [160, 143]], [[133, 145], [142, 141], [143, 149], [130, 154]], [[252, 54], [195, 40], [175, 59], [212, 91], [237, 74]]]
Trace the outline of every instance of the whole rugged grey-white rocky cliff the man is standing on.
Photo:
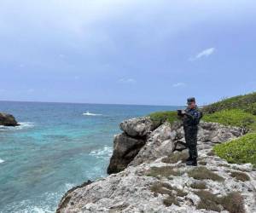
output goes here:
[[238, 127], [201, 122], [199, 166], [186, 166], [179, 122], [155, 126], [149, 118], [120, 124], [105, 178], [69, 190], [57, 212], [256, 212], [252, 164], [228, 164], [216, 143], [243, 135]]

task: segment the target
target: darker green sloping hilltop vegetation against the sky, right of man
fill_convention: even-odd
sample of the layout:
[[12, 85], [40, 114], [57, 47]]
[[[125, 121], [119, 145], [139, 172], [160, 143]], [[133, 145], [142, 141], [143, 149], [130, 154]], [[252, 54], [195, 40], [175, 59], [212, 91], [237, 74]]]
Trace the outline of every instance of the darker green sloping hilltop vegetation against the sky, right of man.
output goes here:
[[[204, 113], [214, 113], [214, 112], [222, 111], [224, 109], [247, 110], [247, 108], [250, 108], [250, 105], [254, 104], [255, 102], [256, 102], [256, 92], [253, 92], [247, 95], [237, 95], [231, 98], [227, 98], [227, 99], [212, 103], [210, 105], [203, 107], [202, 111]], [[250, 112], [250, 113], [253, 113], [253, 112]]]

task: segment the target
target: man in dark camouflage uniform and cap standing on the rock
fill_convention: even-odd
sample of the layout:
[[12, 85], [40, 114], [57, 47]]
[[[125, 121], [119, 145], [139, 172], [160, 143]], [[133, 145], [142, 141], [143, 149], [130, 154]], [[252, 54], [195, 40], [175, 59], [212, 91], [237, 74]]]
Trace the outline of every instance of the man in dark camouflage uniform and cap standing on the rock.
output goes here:
[[197, 131], [198, 124], [202, 117], [202, 113], [195, 105], [195, 98], [191, 97], [187, 100], [188, 107], [178, 114], [183, 119], [183, 130], [185, 135], [186, 146], [189, 149], [189, 158], [186, 160], [187, 165], [197, 165]]

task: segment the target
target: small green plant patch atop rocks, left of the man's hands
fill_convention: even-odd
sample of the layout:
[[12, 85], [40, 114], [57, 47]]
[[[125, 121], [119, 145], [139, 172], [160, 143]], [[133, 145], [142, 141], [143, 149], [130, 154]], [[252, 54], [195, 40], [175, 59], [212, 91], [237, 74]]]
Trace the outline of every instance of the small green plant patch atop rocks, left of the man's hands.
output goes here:
[[152, 120], [155, 126], [163, 124], [165, 121], [168, 121], [172, 124], [174, 121], [178, 120], [176, 111], [163, 111], [163, 112], [153, 112], [150, 113], [149, 118]]

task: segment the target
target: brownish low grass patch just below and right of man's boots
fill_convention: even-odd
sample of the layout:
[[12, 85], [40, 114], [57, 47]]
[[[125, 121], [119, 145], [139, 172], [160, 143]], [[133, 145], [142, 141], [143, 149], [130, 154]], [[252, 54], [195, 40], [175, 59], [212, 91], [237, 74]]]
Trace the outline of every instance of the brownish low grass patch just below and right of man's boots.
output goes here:
[[197, 167], [194, 170], [189, 170], [189, 177], [193, 177], [197, 180], [210, 179], [212, 181], [224, 181], [224, 178], [218, 176], [212, 170], [208, 170], [206, 167]]

